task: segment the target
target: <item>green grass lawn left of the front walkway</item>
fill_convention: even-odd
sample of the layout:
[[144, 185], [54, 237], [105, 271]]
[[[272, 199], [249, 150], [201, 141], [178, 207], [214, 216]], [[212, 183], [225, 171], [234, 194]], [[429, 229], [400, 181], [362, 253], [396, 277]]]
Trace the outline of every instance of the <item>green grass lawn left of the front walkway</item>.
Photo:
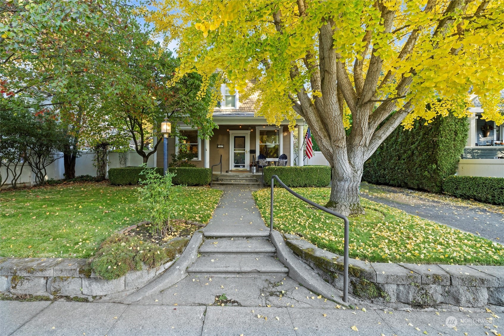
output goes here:
[[[112, 233], [148, 217], [135, 191], [106, 182], [2, 191], [0, 256], [90, 257]], [[221, 194], [182, 187], [173, 218], [208, 223]]]

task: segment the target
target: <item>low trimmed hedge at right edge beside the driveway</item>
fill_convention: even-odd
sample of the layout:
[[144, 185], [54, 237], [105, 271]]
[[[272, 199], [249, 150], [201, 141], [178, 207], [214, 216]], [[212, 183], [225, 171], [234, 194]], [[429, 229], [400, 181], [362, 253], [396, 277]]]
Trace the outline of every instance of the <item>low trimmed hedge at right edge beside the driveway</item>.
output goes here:
[[443, 183], [443, 191], [459, 198], [483, 203], [504, 205], [504, 178], [481, 176], [450, 176]]

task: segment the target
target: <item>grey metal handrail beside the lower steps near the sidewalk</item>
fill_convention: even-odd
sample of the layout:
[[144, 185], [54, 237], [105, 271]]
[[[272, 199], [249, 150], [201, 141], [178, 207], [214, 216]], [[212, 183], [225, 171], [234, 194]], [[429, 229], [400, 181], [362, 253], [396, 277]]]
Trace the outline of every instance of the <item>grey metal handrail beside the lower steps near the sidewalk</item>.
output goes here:
[[320, 204], [315, 203], [314, 201], [309, 200], [306, 197], [301, 196], [297, 192], [293, 191], [291, 188], [286, 186], [284, 182], [282, 182], [277, 175], [273, 175], [271, 177], [271, 203], [270, 203], [270, 235], [273, 232], [273, 190], [274, 190], [274, 184], [275, 184], [275, 179], [280, 183], [280, 185], [286, 189], [288, 192], [296, 196], [297, 198], [301, 199], [302, 201], [306, 202], [307, 204], [320, 209], [322, 211], [327, 212], [328, 214], [331, 214], [333, 216], [336, 216], [338, 218], [341, 218], [345, 222], [345, 232], [344, 232], [344, 255], [343, 255], [343, 302], [348, 303], [348, 218], [346, 216], [341, 215], [340, 213], [337, 213], [335, 211], [332, 211], [330, 209], [327, 209], [326, 207], [321, 206]]

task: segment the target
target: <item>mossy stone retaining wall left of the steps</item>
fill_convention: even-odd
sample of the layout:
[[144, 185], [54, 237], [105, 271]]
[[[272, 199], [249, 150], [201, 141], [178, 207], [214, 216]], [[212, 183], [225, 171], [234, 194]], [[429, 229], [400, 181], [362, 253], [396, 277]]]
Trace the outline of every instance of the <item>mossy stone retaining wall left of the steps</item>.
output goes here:
[[0, 257], [0, 292], [14, 295], [68, 296], [71, 298], [116, 299], [145, 286], [170, 267], [189, 238], [174, 238], [162, 247], [175, 257], [157, 268], [145, 264], [119, 279], [104, 280], [92, 272], [88, 259]]

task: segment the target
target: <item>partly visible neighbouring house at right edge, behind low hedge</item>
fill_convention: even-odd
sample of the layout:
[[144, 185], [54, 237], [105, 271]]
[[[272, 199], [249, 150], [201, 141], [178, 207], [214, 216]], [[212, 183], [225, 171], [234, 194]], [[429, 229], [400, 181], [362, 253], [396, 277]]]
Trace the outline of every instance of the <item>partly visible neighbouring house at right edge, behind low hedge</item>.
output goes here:
[[[504, 90], [500, 91], [500, 96], [504, 99]], [[504, 177], [504, 125], [497, 126], [494, 121], [481, 119], [483, 108], [478, 96], [472, 94], [470, 99], [473, 107], [469, 108], [472, 115], [468, 118], [467, 146], [457, 175]], [[485, 124], [492, 129], [482, 130]]]

